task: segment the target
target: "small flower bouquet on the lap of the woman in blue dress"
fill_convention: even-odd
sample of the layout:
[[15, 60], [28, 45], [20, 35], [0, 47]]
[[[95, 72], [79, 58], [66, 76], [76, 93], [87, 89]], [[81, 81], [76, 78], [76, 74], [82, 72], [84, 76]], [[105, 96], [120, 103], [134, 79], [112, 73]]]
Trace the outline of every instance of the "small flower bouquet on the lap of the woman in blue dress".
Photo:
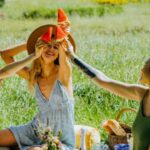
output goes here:
[[62, 150], [62, 143], [59, 140], [62, 136], [61, 131], [58, 132], [57, 136], [54, 136], [54, 133], [51, 130], [51, 128], [47, 127], [45, 129], [40, 130], [39, 135], [42, 142], [44, 142], [44, 150]]

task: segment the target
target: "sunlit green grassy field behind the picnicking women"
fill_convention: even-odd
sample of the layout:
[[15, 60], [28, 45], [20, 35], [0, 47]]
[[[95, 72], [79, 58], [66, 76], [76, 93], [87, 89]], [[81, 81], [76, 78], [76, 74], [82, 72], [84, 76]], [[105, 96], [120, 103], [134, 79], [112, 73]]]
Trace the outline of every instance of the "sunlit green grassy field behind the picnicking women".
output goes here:
[[[39, 25], [56, 22], [55, 19], [23, 19], [27, 9], [25, 0], [7, 0], [0, 9], [0, 49], [26, 41], [30, 32]], [[48, 1], [32, 1], [30, 7], [48, 6]], [[51, 7], [71, 7], [74, 1], [52, 3]], [[66, 2], [66, 3], [65, 3]], [[18, 5], [17, 5], [18, 4]], [[76, 1], [75, 5], [84, 5]], [[86, 3], [90, 5], [90, 3]], [[96, 5], [96, 4], [92, 4]], [[28, 9], [30, 9], [28, 6]], [[137, 83], [140, 68], [150, 56], [150, 4], [122, 6], [120, 14], [103, 17], [70, 16], [72, 34], [77, 44], [77, 55], [101, 70], [109, 77], [128, 83]], [[22, 58], [25, 53], [17, 56]], [[1, 67], [4, 66], [0, 61]], [[114, 118], [123, 107], [138, 108], [139, 103], [119, 98], [99, 88], [73, 66], [75, 96], [75, 122], [99, 128], [103, 137], [107, 134], [101, 123]], [[36, 114], [34, 94], [28, 92], [26, 81], [17, 76], [5, 79], [0, 90], [0, 129], [29, 122]], [[127, 113], [122, 122], [132, 124], [135, 114]]]

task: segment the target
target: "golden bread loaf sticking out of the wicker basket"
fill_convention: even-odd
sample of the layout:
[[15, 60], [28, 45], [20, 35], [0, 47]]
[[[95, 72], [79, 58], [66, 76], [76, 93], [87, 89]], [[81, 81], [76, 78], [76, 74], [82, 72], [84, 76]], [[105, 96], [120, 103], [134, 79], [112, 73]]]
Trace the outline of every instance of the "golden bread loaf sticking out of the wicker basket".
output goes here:
[[125, 136], [125, 130], [120, 126], [119, 122], [114, 119], [109, 119], [103, 123], [103, 128], [109, 132], [118, 136]]

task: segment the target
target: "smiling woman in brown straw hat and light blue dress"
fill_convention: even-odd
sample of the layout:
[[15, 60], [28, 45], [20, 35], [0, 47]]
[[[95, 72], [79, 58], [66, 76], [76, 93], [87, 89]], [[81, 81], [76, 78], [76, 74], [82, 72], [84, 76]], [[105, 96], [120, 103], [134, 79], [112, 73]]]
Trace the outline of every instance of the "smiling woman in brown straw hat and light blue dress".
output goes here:
[[[50, 127], [54, 135], [62, 132], [62, 149], [75, 148], [74, 101], [72, 92], [71, 66], [64, 50], [66, 40], [75, 50], [75, 43], [69, 32], [70, 23], [62, 9], [58, 10], [58, 25], [43, 25], [32, 32], [27, 41], [29, 55], [41, 51], [33, 61], [31, 69], [25, 67], [17, 74], [34, 87], [39, 113], [32, 122], [23, 126], [12, 126], [0, 131], [0, 146], [18, 145], [21, 150], [39, 150], [42, 141], [39, 127]], [[25, 45], [3, 51], [6, 63], [25, 49]]]

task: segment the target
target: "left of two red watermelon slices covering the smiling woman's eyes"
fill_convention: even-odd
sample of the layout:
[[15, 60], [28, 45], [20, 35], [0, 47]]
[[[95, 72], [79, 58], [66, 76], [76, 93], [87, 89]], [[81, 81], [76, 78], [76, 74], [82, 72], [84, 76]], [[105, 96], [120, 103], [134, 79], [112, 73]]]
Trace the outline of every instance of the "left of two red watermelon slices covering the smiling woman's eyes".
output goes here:
[[41, 35], [40, 39], [46, 43], [49, 43], [52, 40], [51, 36], [52, 36], [52, 27], [50, 27], [46, 33]]

